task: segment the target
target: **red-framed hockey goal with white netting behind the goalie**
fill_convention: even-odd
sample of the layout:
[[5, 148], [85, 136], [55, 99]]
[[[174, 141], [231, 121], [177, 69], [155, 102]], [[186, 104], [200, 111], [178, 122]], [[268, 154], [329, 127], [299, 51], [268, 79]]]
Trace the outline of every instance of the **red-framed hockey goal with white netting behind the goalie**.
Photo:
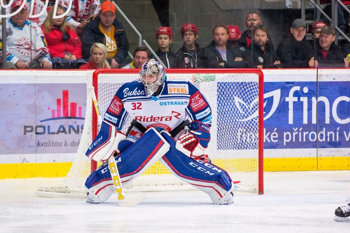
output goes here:
[[[168, 80], [192, 82], [208, 100], [212, 125], [206, 152], [212, 163], [230, 174], [236, 190], [263, 194], [263, 73], [258, 69], [167, 69], [166, 74]], [[91, 163], [85, 152], [99, 129], [91, 89], [104, 115], [116, 90], [135, 79], [139, 79], [138, 70], [88, 71], [86, 115], [77, 155], [62, 185], [39, 187], [39, 196], [86, 197], [84, 183], [97, 164]], [[123, 133], [130, 122], [125, 122]], [[142, 192], [191, 186], [157, 161], [125, 188]]]

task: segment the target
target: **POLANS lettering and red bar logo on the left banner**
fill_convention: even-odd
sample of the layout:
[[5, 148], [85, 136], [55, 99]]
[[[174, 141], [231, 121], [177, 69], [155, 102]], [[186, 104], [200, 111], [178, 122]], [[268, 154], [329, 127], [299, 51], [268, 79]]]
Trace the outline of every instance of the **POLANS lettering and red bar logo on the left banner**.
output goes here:
[[[23, 133], [24, 135], [31, 133], [36, 135], [80, 134], [83, 131], [85, 120], [82, 112], [83, 107], [79, 106], [77, 102], [69, 102], [69, 91], [63, 90], [62, 98], [56, 98], [56, 107], [47, 107], [47, 113], [50, 114], [50, 117], [40, 120], [40, 122], [50, 122], [50, 124], [24, 125]], [[62, 120], [71, 119], [82, 120], [82, 124], [60, 123]]]

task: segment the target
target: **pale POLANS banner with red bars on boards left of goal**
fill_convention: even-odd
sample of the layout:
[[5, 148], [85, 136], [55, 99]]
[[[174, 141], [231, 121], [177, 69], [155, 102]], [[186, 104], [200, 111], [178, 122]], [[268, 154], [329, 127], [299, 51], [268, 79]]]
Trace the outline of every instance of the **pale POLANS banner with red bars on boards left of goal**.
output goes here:
[[1, 84], [0, 163], [73, 160], [56, 155], [75, 154], [79, 146], [86, 112], [86, 73], [65, 74], [51, 75], [50, 81], [47, 76], [41, 81], [36, 74], [39, 77], [28, 78], [28, 83]]

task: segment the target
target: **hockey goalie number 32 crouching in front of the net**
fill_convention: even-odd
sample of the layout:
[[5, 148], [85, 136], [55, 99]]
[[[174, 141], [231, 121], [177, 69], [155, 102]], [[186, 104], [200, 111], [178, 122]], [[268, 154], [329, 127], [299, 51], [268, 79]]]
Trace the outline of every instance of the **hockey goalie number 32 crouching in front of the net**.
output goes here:
[[[126, 135], [120, 132], [127, 117]], [[233, 202], [228, 173], [211, 163], [211, 109], [187, 81], [167, 80], [163, 66], [150, 59], [140, 79], [123, 84], [104, 115], [86, 156], [103, 164], [86, 180], [87, 202], [102, 203], [114, 192], [108, 162], [115, 157], [122, 183], [140, 176], [159, 160], [174, 176], [202, 190], [215, 204]]]

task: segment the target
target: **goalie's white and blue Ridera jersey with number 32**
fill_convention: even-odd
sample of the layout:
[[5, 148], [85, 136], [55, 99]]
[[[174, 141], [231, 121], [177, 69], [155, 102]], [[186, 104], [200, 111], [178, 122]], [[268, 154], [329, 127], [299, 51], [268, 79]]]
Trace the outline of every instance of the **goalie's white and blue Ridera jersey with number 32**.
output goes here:
[[121, 130], [130, 116], [146, 129], [170, 132], [190, 118], [211, 126], [211, 109], [202, 93], [188, 81], [165, 81], [160, 94], [145, 94], [141, 80], [123, 84], [113, 96], [104, 119]]

